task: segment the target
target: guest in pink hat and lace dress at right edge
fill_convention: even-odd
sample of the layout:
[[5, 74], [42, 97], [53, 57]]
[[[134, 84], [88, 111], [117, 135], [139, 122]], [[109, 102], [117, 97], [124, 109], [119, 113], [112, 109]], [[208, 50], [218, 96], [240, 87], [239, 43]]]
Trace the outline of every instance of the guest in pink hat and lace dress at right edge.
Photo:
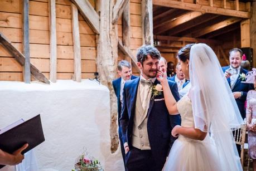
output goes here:
[[254, 90], [247, 93], [246, 125], [248, 129], [249, 157], [253, 159], [253, 170], [256, 171], [256, 69], [248, 72], [247, 83], [254, 84]]

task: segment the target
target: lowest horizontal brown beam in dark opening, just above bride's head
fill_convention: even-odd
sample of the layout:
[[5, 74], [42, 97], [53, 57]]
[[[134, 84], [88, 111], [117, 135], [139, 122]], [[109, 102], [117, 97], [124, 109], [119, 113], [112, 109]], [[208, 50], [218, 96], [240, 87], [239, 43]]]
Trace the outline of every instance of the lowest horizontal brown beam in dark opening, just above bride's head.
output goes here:
[[215, 45], [220, 45], [221, 41], [204, 39], [204, 38], [192, 38], [192, 37], [175, 37], [175, 36], [156, 36], [154, 35], [154, 40], [167, 40], [167, 41], [185, 41], [185, 42], [201, 42], [201, 43], [210, 43]]

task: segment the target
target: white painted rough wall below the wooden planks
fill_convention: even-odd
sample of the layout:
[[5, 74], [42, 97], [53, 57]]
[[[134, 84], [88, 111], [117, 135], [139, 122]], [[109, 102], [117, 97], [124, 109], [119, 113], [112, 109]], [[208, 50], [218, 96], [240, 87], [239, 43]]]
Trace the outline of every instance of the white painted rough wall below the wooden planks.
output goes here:
[[70, 171], [84, 147], [104, 170], [124, 170], [120, 148], [110, 153], [109, 103], [109, 90], [96, 81], [0, 81], [0, 128], [41, 114], [46, 140], [35, 148], [40, 170]]

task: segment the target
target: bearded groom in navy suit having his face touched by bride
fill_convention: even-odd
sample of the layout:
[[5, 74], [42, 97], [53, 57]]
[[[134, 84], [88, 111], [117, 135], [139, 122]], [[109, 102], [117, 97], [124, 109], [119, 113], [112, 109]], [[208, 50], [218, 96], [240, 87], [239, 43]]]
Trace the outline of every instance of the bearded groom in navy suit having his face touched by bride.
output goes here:
[[[160, 171], [174, 141], [171, 130], [180, 125], [181, 118], [168, 114], [163, 92], [154, 87], [160, 84], [156, 80], [160, 52], [144, 45], [138, 50], [137, 60], [141, 76], [125, 82], [119, 119], [126, 167], [127, 171]], [[169, 81], [169, 85], [178, 101], [177, 84]]]

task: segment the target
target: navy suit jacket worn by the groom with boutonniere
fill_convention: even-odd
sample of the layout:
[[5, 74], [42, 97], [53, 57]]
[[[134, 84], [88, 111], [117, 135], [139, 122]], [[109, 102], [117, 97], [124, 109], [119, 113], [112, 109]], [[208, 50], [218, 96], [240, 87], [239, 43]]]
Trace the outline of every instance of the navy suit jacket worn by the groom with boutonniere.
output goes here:
[[[122, 140], [132, 146], [133, 118], [136, 108], [136, 97], [140, 78], [127, 81], [124, 85], [123, 105], [120, 118]], [[168, 80], [170, 89], [176, 101], [180, 99], [176, 82]], [[160, 84], [158, 80], [154, 85]], [[154, 99], [163, 99], [163, 93]], [[175, 125], [181, 124], [180, 115], [170, 115], [165, 105], [165, 100], [154, 101], [151, 99], [148, 109], [147, 131], [152, 157], [157, 161], [166, 161], [166, 157], [173, 143], [171, 130]], [[174, 140], [173, 140], [174, 141]]]

